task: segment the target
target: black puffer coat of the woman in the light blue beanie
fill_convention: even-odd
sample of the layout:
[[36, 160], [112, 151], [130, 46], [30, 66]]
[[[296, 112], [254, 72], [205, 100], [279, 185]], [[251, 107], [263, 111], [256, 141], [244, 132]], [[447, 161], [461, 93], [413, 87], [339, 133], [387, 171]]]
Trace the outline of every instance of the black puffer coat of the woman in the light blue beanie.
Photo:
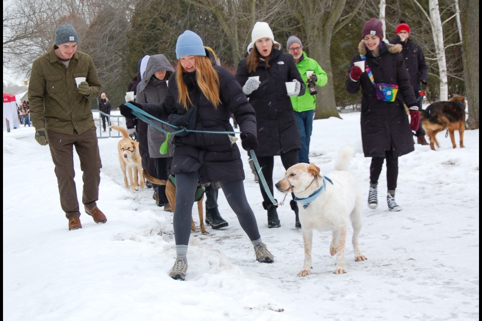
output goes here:
[[[223, 67], [213, 66], [219, 75], [219, 98], [221, 104], [214, 108], [202, 94], [196, 81], [196, 72], [184, 73], [183, 80], [188, 86], [189, 97], [197, 106], [195, 130], [230, 131], [231, 113], [234, 114], [242, 132], [256, 136], [256, 116], [246, 95], [233, 75]], [[168, 94], [162, 108], [155, 104], [143, 104], [143, 110], [167, 120], [169, 114], [186, 113], [177, 102], [178, 87], [174, 72], [169, 81]], [[191, 173], [199, 170], [202, 183], [230, 182], [244, 180], [243, 162], [237, 145], [231, 144], [227, 134], [188, 133], [184, 137], [174, 136], [174, 156], [171, 173]]]

